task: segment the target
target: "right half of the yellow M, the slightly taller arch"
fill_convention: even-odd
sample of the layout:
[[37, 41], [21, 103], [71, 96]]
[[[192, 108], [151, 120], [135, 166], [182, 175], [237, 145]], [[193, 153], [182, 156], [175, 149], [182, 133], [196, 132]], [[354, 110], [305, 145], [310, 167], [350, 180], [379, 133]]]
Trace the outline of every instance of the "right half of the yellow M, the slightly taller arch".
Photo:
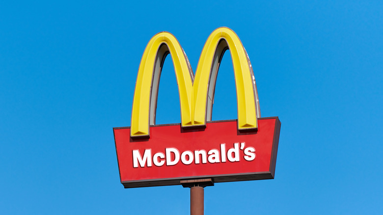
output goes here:
[[211, 120], [219, 63], [230, 50], [237, 89], [238, 129], [256, 129], [260, 116], [258, 93], [250, 60], [237, 34], [227, 27], [214, 30], [202, 49], [194, 85], [194, 124]]

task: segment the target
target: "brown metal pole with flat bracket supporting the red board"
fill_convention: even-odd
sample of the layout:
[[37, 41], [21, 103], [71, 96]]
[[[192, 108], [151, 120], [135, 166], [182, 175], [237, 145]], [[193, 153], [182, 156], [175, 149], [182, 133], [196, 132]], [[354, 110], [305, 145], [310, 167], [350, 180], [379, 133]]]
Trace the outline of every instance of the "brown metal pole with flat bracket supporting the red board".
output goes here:
[[212, 179], [183, 180], [181, 185], [190, 188], [190, 215], [203, 215], [204, 187], [214, 186]]

